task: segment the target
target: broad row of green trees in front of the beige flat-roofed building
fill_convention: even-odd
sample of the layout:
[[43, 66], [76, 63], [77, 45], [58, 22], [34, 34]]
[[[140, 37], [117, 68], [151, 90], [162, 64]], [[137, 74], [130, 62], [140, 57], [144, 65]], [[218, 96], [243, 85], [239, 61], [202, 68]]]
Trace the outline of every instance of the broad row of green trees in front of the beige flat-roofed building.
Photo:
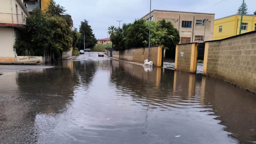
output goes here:
[[[134, 23], [123, 24], [122, 29], [116, 29], [110, 35], [113, 48], [118, 50], [147, 47], [149, 22], [135, 20]], [[162, 45], [164, 49], [175, 51], [175, 44], [179, 43], [180, 36], [171, 22], [165, 20], [151, 22], [151, 46]]]

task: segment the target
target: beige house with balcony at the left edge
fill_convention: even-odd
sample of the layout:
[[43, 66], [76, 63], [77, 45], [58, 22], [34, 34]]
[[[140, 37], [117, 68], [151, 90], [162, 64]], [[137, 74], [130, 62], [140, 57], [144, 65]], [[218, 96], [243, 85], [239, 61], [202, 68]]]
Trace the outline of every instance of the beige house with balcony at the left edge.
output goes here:
[[14, 42], [23, 38], [29, 12], [23, 0], [1, 0], [0, 4], [0, 61], [15, 61]]

